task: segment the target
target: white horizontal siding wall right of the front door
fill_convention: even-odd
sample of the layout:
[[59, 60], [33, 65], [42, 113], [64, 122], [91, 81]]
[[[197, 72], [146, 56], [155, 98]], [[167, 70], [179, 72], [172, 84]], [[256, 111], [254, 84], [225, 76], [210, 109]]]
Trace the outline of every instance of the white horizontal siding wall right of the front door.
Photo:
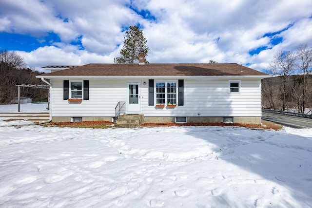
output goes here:
[[[240, 94], [229, 94], [229, 80], [241, 80]], [[260, 78], [249, 80], [184, 79], [184, 105], [177, 105], [174, 109], [166, 107], [156, 109], [155, 106], [148, 106], [147, 85], [141, 89], [141, 95], [144, 97], [142, 100], [144, 116], [159, 116], [160, 114], [162, 116], [261, 116]]]

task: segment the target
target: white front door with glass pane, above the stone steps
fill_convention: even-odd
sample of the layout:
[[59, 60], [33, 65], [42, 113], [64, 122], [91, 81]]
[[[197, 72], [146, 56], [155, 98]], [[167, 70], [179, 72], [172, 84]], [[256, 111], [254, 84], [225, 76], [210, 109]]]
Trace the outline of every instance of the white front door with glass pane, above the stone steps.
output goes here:
[[140, 82], [128, 82], [127, 83], [127, 112], [140, 112]]

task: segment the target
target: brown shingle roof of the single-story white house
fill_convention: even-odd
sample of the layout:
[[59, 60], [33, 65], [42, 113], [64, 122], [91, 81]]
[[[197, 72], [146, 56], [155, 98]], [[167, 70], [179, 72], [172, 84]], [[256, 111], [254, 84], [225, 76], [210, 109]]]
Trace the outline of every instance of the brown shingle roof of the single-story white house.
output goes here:
[[267, 76], [239, 64], [87, 64], [41, 76]]

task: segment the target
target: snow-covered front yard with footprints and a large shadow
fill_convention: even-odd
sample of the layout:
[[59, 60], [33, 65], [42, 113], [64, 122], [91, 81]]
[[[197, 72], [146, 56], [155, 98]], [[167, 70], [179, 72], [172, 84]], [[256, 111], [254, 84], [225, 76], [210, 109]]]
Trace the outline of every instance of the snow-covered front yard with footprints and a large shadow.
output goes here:
[[0, 207], [312, 206], [311, 129], [13, 124], [0, 120]]

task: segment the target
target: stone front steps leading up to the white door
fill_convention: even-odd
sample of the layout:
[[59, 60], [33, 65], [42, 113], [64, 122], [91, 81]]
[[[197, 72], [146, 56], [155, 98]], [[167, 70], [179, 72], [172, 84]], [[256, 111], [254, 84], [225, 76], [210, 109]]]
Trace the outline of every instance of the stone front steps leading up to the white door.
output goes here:
[[141, 125], [144, 120], [143, 114], [136, 115], [119, 115], [114, 124], [114, 127], [117, 128], [137, 128]]

